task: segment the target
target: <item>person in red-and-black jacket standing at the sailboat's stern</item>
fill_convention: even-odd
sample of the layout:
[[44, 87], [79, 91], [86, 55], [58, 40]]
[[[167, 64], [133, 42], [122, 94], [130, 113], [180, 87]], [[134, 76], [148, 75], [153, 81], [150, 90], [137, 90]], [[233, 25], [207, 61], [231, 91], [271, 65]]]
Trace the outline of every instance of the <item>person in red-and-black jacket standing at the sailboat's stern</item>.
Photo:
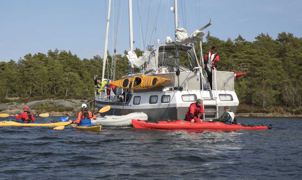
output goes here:
[[207, 53], [206, 57], [204, 58], [204, 70], [207, 71], [207, 77], [210, 83], [211, 90], [213, 90], [212, 86], [212, 73], [213, 68], [217, 71], [217, 65], [219, 61], [219, 56], [217, 54], [217, 47], [212, 46], [212, 50]]

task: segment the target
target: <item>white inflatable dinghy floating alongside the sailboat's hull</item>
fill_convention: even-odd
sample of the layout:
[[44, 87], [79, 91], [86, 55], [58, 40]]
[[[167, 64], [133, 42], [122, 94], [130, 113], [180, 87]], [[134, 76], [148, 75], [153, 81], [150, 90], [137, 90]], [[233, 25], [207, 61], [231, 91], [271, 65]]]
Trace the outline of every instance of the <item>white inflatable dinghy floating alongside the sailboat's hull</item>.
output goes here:
[[132, 126], [132, 119], [139, 119], [143, 121], [148, 120], [148, 116], [143, 112], [133, 112], [127, 115], [105, 115], [104, 117], [97, 117], [96, 120], [91, 119], [93, 125], [105, 126]]

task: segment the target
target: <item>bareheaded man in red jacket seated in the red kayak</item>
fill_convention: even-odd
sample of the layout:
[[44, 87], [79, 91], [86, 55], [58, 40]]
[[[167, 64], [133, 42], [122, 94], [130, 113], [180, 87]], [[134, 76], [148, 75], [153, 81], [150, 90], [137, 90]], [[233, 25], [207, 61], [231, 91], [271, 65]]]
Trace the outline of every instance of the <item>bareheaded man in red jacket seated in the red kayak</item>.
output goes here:
[[[200, 117], [198, 114], [200, 113]], [[185, 121], [201, 122], [204, 118], [204, 108], [202, 107], [202, 99], [197, 99], [196, 103], [192, 103], [189, 106], [189, 110], [186, 113]]]

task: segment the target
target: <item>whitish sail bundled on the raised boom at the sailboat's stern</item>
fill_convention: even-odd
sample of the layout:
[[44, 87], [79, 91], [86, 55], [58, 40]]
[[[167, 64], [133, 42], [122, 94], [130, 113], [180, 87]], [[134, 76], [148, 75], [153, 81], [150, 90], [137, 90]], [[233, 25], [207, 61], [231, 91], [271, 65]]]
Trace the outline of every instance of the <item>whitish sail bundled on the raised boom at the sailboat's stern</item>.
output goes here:
[[194, 30], [194, 33], [188, 36], [187, 30], [184, 28], [177, 28], [175, 35], [175, 44], [182, 45], [194, 43], [197, 39], [201, 39], [202, 36], [204, 36], [204, 32], [196, 29]]

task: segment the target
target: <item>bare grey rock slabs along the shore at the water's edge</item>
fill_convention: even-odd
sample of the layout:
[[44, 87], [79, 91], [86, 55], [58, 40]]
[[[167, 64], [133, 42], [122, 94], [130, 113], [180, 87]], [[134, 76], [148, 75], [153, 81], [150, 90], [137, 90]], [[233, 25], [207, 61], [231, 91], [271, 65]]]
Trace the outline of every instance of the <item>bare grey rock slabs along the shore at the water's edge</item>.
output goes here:
[[[46, 99], [46, 100], [39, 100], [39, 101], [33, 101], [28, 103], [2, 103], [0, 105], [0, 109], [2, 111], [0, 113], [6, 113], [9, 115], [15, 115], [20, 114], [23, 112], [22, 108], [24, 106], [29, 107], [29, 111], [33, 114], [37, 114], [35, 109], [32, 109], [31, 107], [34, 107], [37, 103], [44, 103], [48, 102], [52, 106], [56, 107], [62, 107], [62, 108], [70, 108], [73, 109], [72, 111], [65, 111], [65, 112], [43, 112], [48, 113], [51, 116], [77, 116], [78, 112], [81, 110], [81, 105], [83, 103], [88, 103], [85, 99]], [[93, 112], [93, 101], [91, 103], [87, 104], [88, 110]], [[3, 110], [4, 109], [4, 110]], [[98, 112], [98, 109], [95, 108], [94, 112]], [[236, 117], [302, 117], [302, 115], [278, 115], [278, 114], [265, 114], [265, 113], [237, 113]]]

